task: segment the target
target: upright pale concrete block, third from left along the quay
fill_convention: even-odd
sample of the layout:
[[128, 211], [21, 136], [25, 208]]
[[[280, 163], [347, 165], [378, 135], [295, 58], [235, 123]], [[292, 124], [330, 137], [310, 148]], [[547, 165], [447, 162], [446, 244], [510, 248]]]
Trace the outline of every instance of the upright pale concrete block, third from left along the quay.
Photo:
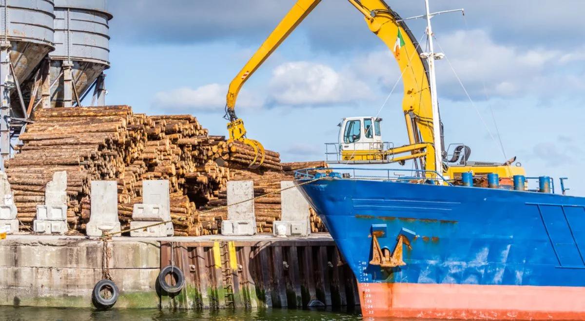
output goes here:
[[91, 215], [85, 232], [88, 236], [101, 236], [104, 231], [120, 231], [118, 182], [115, 180], [92, 180]]

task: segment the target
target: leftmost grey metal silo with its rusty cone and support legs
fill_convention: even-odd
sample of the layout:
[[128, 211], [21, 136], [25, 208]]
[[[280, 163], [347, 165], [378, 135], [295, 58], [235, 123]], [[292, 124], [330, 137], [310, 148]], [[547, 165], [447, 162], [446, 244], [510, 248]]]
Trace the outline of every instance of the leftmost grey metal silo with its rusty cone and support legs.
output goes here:
[[11, 134], [18, 134], [28, 118], [20, 85], [54, 49], [53, 6], [53, 0], [0, 0], [2, 160], [10, 153]]

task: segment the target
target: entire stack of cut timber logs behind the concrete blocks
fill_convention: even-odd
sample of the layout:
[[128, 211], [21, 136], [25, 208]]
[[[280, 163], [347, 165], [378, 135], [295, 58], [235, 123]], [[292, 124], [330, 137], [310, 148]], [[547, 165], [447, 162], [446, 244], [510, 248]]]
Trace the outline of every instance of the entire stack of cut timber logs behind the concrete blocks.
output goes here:
[[[67, 172], [71, 230], [84, 232], [89, 221], [91, 180], [118, 181], [119, 217], [127, 228], [133, 204], [142, 203], [142, 181], [167, 179], [171, 217], [182, 219], [175, 233], [187, 236], [219, 232], [226, 211], [207, 210], [225, 205], [228, 180], [252, 179], [254, 193], [270, 193], [280, 189], [280, 180], [293, 178], [291, 170], [324, 165], [283, 166], [277, 152], [266, 151], [263, 166], [250, 170], [250, 146], [209, 135], [191, 115], [146, 116], [129, 106], [106, 106], [37, 110], [33, 119], [20, 135], [23, 145], [6, 163], [24, 230], [32, 225], [36, 205], [44, 204], [46, 183], [60, 170]], [[259, 232], [270, 232], [280, 218], [280, 195], [260, 198], [256, 209]], [[323, 231], [318, 224], [315, 231]]]

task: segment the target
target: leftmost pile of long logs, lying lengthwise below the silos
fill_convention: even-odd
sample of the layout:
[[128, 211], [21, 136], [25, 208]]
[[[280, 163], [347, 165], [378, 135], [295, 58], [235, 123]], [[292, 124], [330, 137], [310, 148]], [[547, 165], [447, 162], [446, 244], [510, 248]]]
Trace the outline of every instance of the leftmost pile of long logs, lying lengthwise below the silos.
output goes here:
[[143, 135], [126, 130], [140, 125], [128, 106], [50, 109], [35, 113], [35, 123], [20, 135], [25, 144], [6, 162], [6, 174], [15, 194], [18, 219], [30, 229], [36, 205], [44, 204], [45, 185], [54, 172], [67, 172], [67, 217], [80, 229], [82, 200], [91, 179], [115, 179], [125, 170], [125, 159], [143, 148]]

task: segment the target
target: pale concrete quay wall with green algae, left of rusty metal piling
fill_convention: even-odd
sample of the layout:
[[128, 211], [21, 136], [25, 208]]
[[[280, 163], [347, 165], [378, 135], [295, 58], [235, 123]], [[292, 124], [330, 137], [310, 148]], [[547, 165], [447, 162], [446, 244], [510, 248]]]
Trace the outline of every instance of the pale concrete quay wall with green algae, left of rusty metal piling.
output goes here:
[[[115, 239], [109, 273], [119, 308], [156, 308], [160, 271], [156, 240]], [[102, 279], [103, 242], [63, 236], [13, 235], [0, 241], [0, 305], [88, 307]]]

